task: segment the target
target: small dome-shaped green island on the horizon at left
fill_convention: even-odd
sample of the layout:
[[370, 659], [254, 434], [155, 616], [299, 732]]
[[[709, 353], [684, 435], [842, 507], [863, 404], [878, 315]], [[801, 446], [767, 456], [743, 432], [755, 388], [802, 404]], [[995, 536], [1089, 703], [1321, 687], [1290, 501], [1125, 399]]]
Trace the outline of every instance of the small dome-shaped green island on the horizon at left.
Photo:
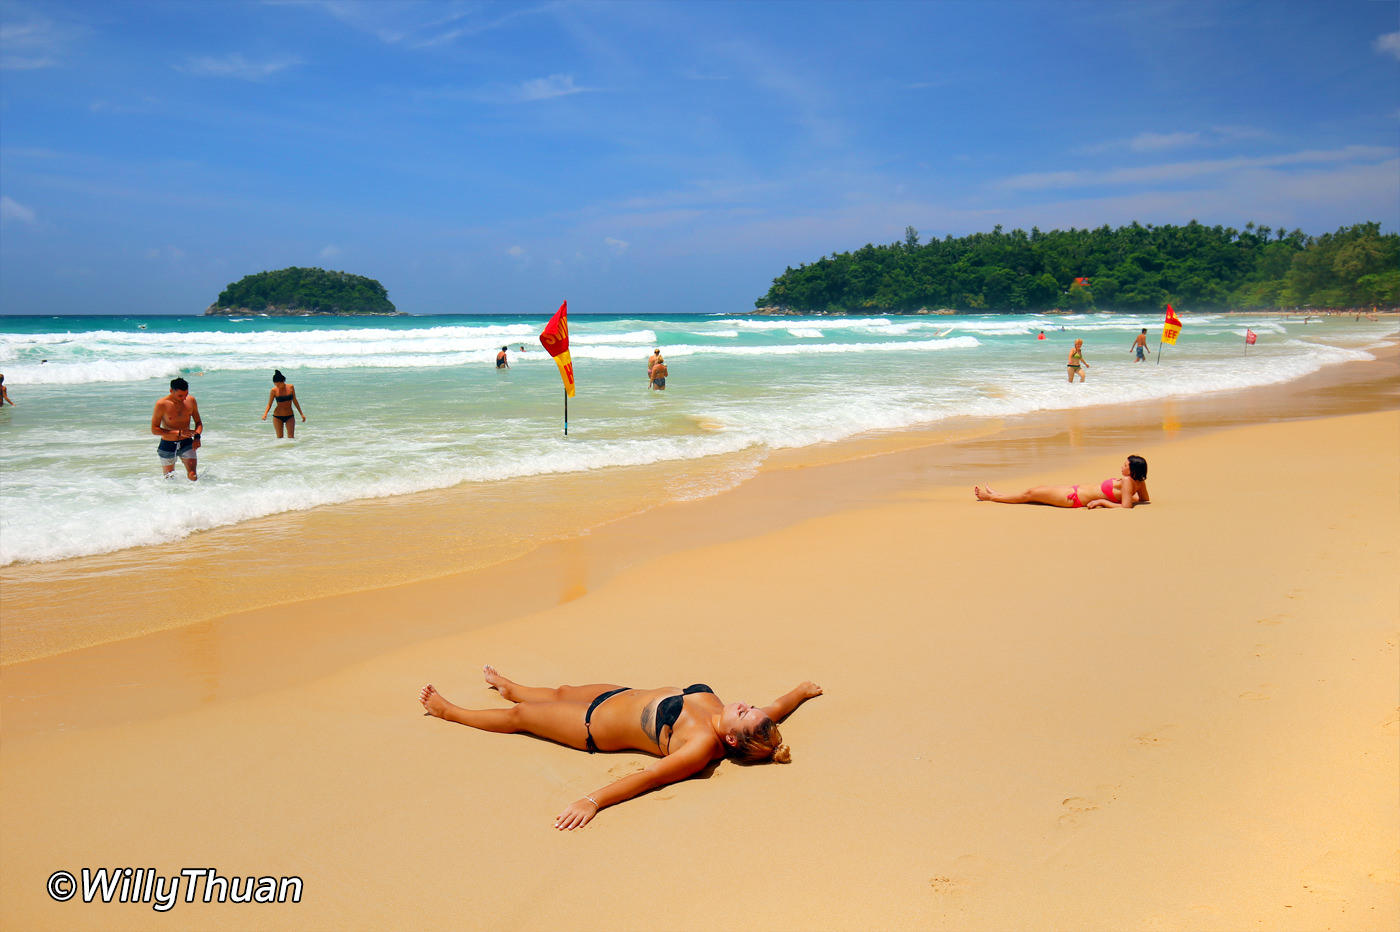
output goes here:
[[374, 278], [325, 269], [283, 269], [246, 276], [218, 294], [204, 316], [262, 313], [269, 316], [409, 315], [396, 311], [389, 292]]

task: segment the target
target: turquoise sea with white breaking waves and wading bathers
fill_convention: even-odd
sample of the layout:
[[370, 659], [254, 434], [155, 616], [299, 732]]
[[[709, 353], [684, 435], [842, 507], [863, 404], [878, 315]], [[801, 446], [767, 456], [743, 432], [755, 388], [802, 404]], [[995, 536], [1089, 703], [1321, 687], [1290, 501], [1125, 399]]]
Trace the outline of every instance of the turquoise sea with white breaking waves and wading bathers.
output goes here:
[[[335, 502], [650, 465], [683, 466], [662, 495], [694, 498], [742, 481], [776, 451], [1277, 383], [1397, 337], [1393, 320], [1184, 313], [1179, 343], [1156, 362], [1158, 315], [575, 315], [566, 437], [563, 386], [538, 341], [552, 311], [0, 318], [0, 372], [18, 404], [0, 414], [0, 565]], [[1259, 334], [1247, 350], [1246, 325]], [[1134, 364], [1128, 347], [1144, 326], [1154, 357]], [[1065, 382], [1075, 337], [1091, 365], [1082, 385]], [[508, 371], [494, 368], [501, 346]], [[647, 386], [657, 347], [666, 392]], [[274, 368], [307, 413], [294, 441], [259, 420]], [[176, 375], [206, 424], [197, 484], [161, 480], [148, 432]]]

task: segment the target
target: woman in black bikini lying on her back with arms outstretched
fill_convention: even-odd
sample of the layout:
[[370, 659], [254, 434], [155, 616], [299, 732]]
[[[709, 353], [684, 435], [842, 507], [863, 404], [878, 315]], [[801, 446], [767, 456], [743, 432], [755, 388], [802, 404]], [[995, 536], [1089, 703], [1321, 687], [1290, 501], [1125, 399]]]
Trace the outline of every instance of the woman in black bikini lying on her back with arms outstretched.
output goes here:
[[815, 683], [802, 683], [770, 705], [746, 702], [725, 705], [708, 686], [679, 690], [634, 690], [626, 686], [521, 686], [496, 668], [482, 668], [486, 682], [515, 702], [511, 708], [470, 709], [452, 705], [442, 694], [424, 686], [419, 694], [431, 715], [483, 732], [529, 732], [589, 754], [599, 750], [641, 750], [661, 760], [568, 805], [554, 819], [556, 828], [587, 826], [603, 806], [620, 803], [648, 789], [685, 779], [725, 754], [735, 760], [788, 763], [787, 744], [777, 721], [798, 705], [822, 694]]

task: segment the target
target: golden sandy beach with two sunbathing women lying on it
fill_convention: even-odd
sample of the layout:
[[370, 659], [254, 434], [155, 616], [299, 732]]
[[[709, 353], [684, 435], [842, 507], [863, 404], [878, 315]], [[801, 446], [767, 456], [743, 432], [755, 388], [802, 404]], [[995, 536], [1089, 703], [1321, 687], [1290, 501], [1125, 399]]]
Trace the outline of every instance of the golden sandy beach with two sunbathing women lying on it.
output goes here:
[[[1396, 355], [1333, 368], [774, 469], [489, 570], [8, 665], [0, 926], [1394, 929]], [[972, 495], [1126, 453], [1147, 508]], [[648, 757], [423, 715], [430, 682], [504, 705], [483, 663], [826, 694], [784, 725], [792, 764], [566, 834]], [[302, 894], [49, 896], [84, 868]]]

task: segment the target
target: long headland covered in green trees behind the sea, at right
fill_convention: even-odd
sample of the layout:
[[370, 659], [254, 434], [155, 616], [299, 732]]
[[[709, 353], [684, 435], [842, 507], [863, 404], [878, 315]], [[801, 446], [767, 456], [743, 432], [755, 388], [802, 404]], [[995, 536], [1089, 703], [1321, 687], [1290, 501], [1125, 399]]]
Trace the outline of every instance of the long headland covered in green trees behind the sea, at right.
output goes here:
[[865, 245], [788, 269], [757, 308], [815, 313], [955, 311], [1191, 311], [1393, 305], [1400, 234], [1380, 224], [1309, 236], [1133, 223], [1110, 230], [1032, 228]]

